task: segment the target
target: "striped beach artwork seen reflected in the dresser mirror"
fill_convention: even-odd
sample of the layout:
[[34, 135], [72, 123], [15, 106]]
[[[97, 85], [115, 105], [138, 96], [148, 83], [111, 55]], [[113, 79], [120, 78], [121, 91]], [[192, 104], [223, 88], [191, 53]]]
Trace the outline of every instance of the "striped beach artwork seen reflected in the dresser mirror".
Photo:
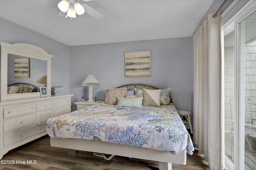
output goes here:
[[14, 58], [14, 77], [15, 78], [29, 78], [29, 64], [30, 58]]

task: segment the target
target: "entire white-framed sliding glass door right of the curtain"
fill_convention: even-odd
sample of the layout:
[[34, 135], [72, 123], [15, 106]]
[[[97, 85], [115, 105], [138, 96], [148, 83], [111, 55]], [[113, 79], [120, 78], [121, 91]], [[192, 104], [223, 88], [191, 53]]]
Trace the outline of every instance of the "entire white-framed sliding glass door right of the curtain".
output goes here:
[[256, 170], [256, 2], [224, 25], [222, 115], [226, 169]]

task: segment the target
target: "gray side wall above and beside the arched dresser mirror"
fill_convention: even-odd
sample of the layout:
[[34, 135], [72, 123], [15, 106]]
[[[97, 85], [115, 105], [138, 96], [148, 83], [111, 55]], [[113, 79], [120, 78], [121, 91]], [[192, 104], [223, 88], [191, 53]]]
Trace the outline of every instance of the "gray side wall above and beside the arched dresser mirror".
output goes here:
[[52, 87], [64, 86], [66, 94], [70, 94], [70, 47], [68, 45], [2, 18], [0, 18], [0, 41], [10, 44], [33, 44], [54, 55], [52, 58]]

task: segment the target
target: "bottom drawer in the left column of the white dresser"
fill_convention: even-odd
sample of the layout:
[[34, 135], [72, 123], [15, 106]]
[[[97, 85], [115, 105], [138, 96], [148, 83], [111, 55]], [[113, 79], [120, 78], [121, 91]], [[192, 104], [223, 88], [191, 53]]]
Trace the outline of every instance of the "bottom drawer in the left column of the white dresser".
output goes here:
[[30, 127], [20, 131], [4, 134], [4, 146], [26, 139], [33, 135], [36, 135], [36, 127]]

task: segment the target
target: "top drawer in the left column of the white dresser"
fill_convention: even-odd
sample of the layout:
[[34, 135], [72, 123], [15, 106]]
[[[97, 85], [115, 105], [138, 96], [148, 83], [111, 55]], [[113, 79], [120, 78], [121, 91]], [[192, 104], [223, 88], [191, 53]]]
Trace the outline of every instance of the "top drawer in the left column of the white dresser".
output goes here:
[[25, 113], [31, 113], [36, 111], [36, 104], [25, 104], [20, 106], [14, 106], [14, 107], [5, 107], [4, 108], [4, 118], [16, 116], [16, 115], [22, 115]]

